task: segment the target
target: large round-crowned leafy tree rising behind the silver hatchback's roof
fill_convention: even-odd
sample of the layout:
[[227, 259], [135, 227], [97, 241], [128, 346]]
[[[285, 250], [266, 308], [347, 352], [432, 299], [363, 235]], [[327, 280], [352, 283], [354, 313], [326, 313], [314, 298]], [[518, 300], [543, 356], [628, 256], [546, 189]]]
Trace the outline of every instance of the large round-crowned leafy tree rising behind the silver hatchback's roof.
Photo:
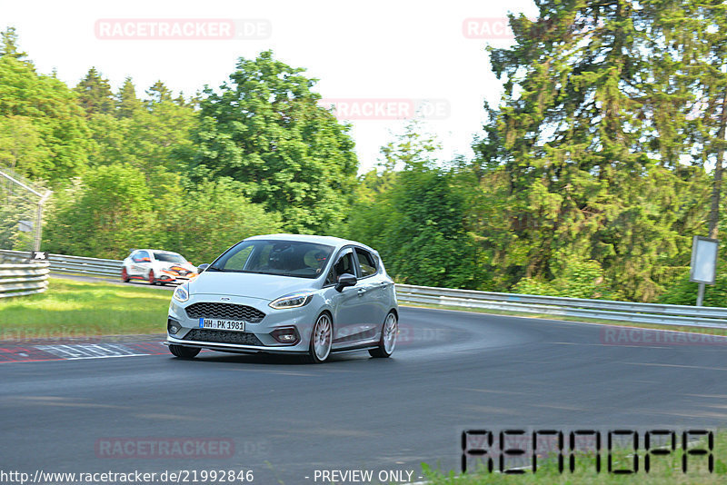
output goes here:
[[219, 92], [206, 88], [192, 171], [241, 182], [287, 231], [322, 233], [343, 219], [357, 161], [349, 127], [316, 104], [303, 73], [268, 51], [241, 58]]

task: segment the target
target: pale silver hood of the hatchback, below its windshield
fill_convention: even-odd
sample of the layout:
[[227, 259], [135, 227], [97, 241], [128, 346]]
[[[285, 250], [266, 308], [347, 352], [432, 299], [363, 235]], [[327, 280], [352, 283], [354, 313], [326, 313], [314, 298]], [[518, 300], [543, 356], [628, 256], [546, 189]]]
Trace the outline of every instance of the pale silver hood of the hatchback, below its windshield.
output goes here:
[[313, 289], [315, 280], [246, 272], [203, 272], [189, 283], [190, 294], [246, 296], [272, 302], [289, 293]]

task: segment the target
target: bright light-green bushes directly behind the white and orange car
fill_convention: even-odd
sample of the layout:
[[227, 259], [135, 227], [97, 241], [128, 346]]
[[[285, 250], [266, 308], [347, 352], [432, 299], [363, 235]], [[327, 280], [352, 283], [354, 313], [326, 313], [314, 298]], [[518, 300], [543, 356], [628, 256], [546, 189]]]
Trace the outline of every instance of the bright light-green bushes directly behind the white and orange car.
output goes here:
[[131, 248], [181, 252], [212, 262], [234, 243], [281, 230], [280, 215], [250, 203], [230, 179], [189, 183], [161, 169], [147, 185], [128, 164], [90, 169], [54, 197], [44, 248], [50, 252], [123, 259]]

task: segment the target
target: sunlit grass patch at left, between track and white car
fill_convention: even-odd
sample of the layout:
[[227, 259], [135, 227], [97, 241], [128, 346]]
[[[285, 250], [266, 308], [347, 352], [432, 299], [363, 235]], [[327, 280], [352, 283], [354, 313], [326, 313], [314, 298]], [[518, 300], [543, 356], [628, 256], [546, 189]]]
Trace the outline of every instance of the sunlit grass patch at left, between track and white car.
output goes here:
[[48, 290], [0, 299], [0, 341], [163, 333], [172, 292], [50, 279]]

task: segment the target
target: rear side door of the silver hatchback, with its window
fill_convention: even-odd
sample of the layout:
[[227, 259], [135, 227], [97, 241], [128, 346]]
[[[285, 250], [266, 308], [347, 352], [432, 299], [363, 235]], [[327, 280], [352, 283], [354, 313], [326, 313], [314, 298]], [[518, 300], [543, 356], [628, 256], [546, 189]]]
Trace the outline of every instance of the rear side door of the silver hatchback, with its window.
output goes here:
[[361, 296], [360, 311], [367, 326], [376, 330], [383, 323], [386, 306], [386, 282], [379, 271], [378, 258], [364, 248], [355, 247], [356, 265], [359, 274], [356, 288]]

